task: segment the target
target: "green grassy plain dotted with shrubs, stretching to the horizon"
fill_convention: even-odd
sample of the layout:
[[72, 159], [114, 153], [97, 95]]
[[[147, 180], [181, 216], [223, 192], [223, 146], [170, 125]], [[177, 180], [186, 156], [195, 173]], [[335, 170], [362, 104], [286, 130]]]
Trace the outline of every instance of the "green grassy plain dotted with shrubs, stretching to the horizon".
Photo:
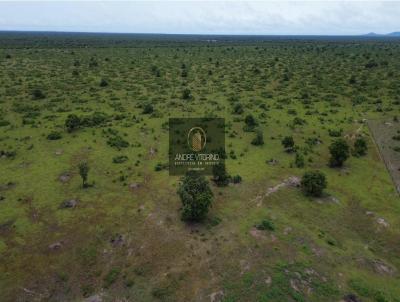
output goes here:
[[[0, 34], [0, 300], [400, 301], [400, 198], [366, 124], [400, 130], [399, 57], [396, 40]], [[155, 169], [170, 117], [225, 118], [243, 181], [212, 185], [204, 223], [181, 221], [179, 176]], [[330, 168], [335, 135], [367, 155]], [[321, 198], [282, 184], [314, 169]]]

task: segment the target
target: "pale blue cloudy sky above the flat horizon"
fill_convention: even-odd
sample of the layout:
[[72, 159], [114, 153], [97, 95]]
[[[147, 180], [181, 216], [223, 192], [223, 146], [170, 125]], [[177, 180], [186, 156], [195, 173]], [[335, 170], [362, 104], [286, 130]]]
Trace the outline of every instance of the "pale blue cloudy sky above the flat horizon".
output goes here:
[[400, 1], [3, 1], [0, 30], [357, 35], [400, 31]]

